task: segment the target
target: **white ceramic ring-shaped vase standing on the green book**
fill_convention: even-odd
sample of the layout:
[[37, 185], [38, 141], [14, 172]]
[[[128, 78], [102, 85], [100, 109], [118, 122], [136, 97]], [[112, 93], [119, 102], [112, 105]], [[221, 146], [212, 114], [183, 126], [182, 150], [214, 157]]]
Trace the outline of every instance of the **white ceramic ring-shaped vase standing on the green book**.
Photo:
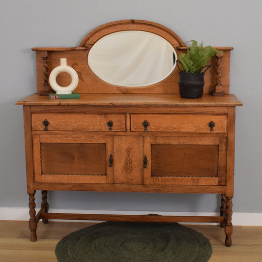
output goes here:
[[[67, 87], [61, 87], [57, 83], [57, 76], [61, 72], [68, 73], [71, 78], [71, 84]], [[78, 85], [78, 75], [74, 68], [68, 66], [66, 58], [60, 58], [60, 65], [52, 70], [49, 75], [49, 84], [57, 92], [57, 94], [71, 94]]]

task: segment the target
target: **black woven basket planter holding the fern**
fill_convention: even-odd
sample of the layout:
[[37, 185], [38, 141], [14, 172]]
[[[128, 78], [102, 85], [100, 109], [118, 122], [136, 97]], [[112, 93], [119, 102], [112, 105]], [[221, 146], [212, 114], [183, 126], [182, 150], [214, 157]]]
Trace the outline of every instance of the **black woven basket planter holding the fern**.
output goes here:
[[203, 95], [204, 73], [179, 71], [178, 84], [182, 98], [200, 98]]

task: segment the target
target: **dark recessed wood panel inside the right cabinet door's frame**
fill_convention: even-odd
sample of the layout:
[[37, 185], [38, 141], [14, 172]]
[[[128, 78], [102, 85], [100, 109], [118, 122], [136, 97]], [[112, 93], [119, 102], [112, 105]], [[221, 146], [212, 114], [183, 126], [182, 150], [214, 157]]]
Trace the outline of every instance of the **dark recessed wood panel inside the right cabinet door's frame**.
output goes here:
[[217, 145], [152, 145], [152, 176], [218, 177]]

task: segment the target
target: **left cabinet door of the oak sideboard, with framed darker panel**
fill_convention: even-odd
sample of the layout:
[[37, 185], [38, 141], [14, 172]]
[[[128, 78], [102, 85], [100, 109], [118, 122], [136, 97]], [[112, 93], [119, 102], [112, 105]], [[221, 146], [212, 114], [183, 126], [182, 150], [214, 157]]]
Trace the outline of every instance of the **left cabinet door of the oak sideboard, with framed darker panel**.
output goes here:
[[106, 136], [33, 135], [35, 182], [107, 183]]

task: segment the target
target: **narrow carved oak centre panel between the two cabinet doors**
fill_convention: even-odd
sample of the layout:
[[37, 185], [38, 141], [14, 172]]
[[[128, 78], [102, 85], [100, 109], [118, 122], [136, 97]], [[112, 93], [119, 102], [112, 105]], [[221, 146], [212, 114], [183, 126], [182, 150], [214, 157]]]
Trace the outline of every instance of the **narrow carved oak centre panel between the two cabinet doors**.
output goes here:
[[143, 184], [143, 137], [115, 136], [114, 183]]

